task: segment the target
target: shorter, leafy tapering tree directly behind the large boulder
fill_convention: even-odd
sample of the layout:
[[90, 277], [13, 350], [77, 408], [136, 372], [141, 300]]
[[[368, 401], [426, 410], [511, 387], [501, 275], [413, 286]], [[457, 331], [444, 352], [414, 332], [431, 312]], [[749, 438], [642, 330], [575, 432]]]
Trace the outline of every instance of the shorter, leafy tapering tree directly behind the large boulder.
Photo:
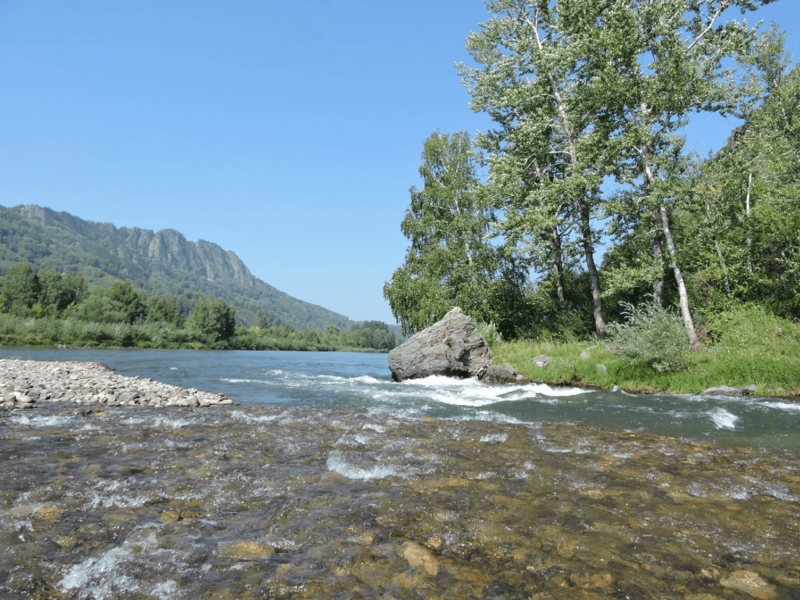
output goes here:
[[478, 156], [466, 132], [434, 132], [422, 152], [423, 188], [412, 187], [401, 229], [411, 245], [383, 288], [408, 335], [459, 306], [484, 321], [496, 317], [494, 294], [514, 287], [498, 248], [487, 240], [491, 212], [482, 204]]

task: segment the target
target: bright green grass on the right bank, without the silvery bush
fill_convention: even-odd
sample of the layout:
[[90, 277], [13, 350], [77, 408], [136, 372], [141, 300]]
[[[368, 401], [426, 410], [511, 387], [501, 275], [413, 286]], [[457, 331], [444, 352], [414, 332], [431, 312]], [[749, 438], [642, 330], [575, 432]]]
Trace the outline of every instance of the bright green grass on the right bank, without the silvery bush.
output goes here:
[[[759, 394], [800, 396], [800, 327], [796, 323], [750, 307], [716, 315], [704, 331], [702, 347], [689, 352], [683, 368], [674, 371], [631, 364], [612, 351], [613, 344], [597, 341], [496, 342], [493, 352], [496, 364], [509, 362], [520, 373], [551, 384], [681, 394], [755, 384]], [[539, 355], [551, 357], [544, 368], [532, 363]]]

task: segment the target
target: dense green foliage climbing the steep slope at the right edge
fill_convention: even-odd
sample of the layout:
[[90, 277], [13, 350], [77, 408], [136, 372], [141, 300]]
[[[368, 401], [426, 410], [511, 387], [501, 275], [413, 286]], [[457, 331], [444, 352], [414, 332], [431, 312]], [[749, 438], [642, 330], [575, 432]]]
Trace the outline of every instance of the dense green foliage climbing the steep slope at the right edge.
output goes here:
[[677, 214], [709, 308], [755, 302], [800, 318], [800, 73], [703, 164]]

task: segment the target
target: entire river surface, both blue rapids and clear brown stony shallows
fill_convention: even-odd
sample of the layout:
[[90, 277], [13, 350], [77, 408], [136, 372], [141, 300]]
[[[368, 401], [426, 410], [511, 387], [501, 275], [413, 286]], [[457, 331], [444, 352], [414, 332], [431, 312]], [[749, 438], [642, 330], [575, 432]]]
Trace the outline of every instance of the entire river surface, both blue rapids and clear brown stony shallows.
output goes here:
[[800, 598], [791, 401], [4, 350], [238, 406], [0, 412], [0, 598]]

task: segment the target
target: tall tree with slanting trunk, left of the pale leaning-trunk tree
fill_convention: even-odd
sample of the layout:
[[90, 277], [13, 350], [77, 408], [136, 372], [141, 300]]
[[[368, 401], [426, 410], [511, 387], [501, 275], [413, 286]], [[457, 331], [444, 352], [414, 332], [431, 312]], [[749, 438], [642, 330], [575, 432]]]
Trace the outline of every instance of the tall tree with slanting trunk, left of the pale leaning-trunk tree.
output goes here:
[[[550, 263], [563, 303], [562, 244], [574, 235], [589, 273], [598, 337], [606, 324], [594, 260], [603, 169], [602, 115], [589, 112], [594, 90], [582, 78], [585, 30], [604, 2], [490, 0], [494, 18], [467, 38], [478, 67], [459, 65], [472, 108], [497, 129], [481, 136], [510, 240]], [[542, 251], [543, 250], [543, 251]], [[537, 254], [539, 256], [537, 256]]]

